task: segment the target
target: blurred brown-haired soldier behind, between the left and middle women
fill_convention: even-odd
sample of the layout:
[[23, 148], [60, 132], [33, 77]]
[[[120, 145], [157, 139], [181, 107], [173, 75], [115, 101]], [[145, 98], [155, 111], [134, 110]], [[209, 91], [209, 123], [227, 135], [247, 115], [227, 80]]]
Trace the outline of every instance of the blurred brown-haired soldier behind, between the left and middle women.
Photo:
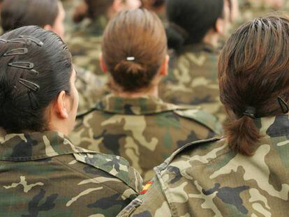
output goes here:
[[99, 57], [102, 35], [108, 21], [121, 10], [140, 6], [140, 0], [83, 0], [75, 8], [73, 16], [73, 20], [80, 25], [75, 27], [67, 40], [75, 64], [96, 75], [103, 75]]

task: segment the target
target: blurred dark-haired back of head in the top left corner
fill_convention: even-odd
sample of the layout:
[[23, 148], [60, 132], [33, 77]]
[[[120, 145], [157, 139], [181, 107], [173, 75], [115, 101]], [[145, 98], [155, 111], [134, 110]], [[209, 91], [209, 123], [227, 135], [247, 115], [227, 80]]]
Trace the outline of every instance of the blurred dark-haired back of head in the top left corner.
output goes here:
[[59, 0], [4, 0], [1, 26], [4, 31], [19, 27], [54, 25], [59, 13]]

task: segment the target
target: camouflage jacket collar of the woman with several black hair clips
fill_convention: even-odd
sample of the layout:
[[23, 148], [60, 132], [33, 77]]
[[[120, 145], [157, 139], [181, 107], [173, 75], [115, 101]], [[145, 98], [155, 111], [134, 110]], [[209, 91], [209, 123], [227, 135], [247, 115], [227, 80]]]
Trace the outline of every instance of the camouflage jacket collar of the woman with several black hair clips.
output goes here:
[[57, 132], [6, 134], [0, 137], [0, 160], [28, 161], [74, 153], [93, 153], [75, 147]]

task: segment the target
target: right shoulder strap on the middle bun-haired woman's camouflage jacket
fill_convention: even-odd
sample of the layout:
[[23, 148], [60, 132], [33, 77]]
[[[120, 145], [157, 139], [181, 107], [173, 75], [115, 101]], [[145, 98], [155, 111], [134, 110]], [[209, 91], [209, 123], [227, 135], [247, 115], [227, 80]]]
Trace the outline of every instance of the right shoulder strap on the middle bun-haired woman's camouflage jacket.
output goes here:
[[181, 108], [179, 110], [175, 110], [174, 112], [180, 117], [197, 121], [199, 124], [202, 124], [203, 126], [212, 130], [214, 133], [216, 133], [216, 135], [223, 134], [223, 128], [218, 122], [218, 119], [212, 114], [199, 110], [197, 107], [184, 107], [183, 109]]

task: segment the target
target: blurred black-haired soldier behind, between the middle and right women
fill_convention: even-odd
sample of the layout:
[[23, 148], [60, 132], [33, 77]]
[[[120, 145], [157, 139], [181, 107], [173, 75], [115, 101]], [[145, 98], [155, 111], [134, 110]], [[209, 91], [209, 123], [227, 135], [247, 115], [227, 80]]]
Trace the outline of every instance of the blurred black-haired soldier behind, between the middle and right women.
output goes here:
[[230, 23], [228, 1], [167, 0], [169, 76], [160, 96], [177, 105], [198, 105], [220, 121], [225, 111], [218, 98], [218, 41]]

